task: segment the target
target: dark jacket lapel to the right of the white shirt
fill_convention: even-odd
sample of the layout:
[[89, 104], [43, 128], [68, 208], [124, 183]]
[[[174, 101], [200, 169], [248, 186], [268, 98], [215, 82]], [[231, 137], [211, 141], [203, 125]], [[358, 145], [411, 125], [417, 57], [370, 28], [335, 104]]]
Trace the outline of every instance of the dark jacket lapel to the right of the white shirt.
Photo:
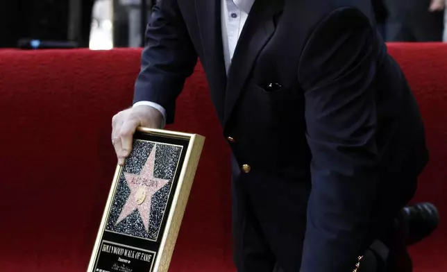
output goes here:
[[260, 51], [275, 32], [274, 18], [284, 6], [284, 0], [255, 0], [235, 49], [226, 85], [223, 126], [231, 112]]

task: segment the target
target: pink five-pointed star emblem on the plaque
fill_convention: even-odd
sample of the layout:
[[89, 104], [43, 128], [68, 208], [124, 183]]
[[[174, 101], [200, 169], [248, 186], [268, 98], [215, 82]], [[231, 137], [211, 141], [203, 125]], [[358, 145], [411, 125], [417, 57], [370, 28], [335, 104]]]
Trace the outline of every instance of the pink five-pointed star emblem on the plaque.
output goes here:
[[151, 212], [152, 196], [169, 182], [169, 180], [163, 180], [153, 176], [156, 147], [155, 144], [140, 175], [124, 173], [124, 177], [126, 178], [127, 185], [130, 189], [130, 196], [127, 198], [126, 204], [119, 214], [117, 224], [126, 219], [127, 216], [137, 209], [142, 218], [144, 228], [146, 228], [146, 231], [149, 230], [149, 215]]

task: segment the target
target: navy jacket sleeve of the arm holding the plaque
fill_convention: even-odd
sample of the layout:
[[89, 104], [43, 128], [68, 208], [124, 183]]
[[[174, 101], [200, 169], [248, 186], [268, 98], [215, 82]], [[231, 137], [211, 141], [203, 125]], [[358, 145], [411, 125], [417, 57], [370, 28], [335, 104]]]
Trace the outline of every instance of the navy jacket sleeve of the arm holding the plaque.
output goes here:
[[196, 62], [197, 54], [177, 0], [157, 1], [146, 29], [133, 103], [157, 103], [166, 110], [167, 124], [172, 123], [176, 98]]

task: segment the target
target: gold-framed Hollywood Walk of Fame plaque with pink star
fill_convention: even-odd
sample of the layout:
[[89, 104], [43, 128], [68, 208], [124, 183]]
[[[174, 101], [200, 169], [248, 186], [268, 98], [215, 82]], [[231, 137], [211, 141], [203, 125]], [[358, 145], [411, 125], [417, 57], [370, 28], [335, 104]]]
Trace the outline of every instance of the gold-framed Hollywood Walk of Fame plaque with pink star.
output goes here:
[[87, 272], [165, 272], [205, 138], [137, 128], [118, 166]]

